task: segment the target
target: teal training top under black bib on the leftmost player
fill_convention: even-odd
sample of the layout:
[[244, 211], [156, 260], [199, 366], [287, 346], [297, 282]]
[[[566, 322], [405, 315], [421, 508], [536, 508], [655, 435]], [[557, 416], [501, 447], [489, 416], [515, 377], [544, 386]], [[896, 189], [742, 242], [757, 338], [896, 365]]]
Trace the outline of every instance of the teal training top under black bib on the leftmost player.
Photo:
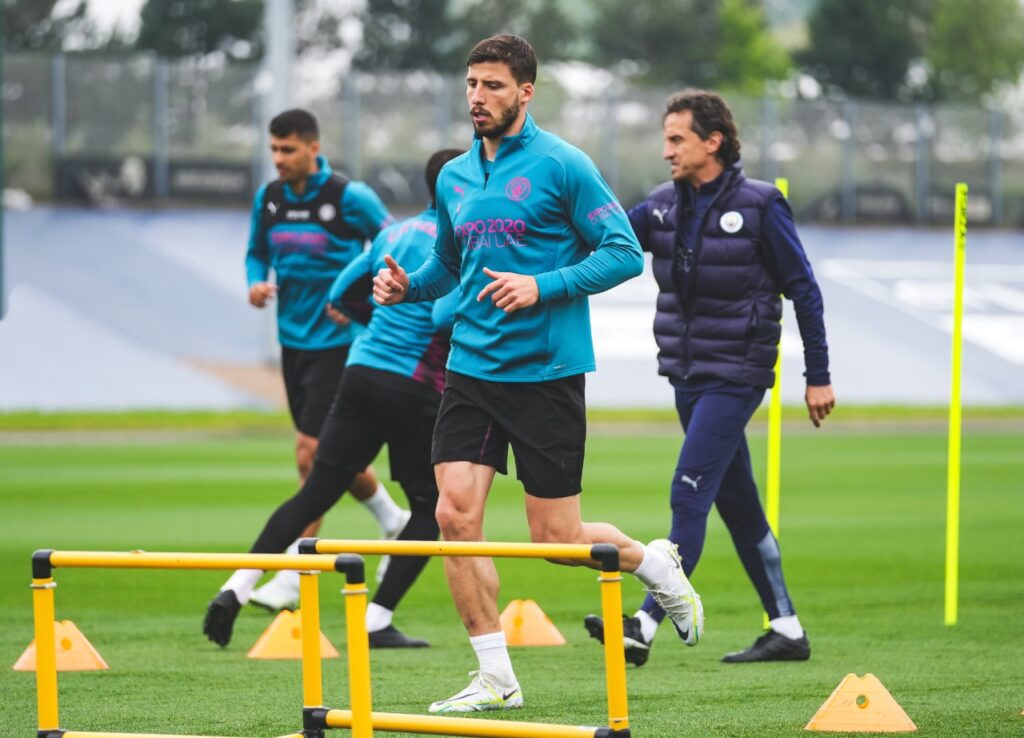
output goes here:
[[259, 188], [246, 253], [250, 287], [266, 281], [271, 267], [276, 274], [281, 344], [307, 351], [346, 346], [355, 338], [358, 329], [340, 327], [325, 314], [327, 291], [366, 242], [393, 221], [368, 185], [335, 175], [323, 155], [316, 163], [302, 197], [281, 180]]

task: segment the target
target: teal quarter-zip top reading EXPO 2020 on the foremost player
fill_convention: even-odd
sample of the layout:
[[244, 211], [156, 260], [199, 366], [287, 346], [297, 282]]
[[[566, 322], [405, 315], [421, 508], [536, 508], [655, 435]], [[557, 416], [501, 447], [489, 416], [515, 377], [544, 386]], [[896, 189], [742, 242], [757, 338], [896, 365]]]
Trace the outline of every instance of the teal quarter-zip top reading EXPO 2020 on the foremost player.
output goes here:
[[[512, 313], [489, 295], [477, 302], [492, 281], [484, 267], [534, 275], [540, 301]], [[431, 300], [458, 286], [449, 370], [545, 382], [594, 371], [587, 296], [642, 269], [640, 244], [594, 163], [527, 115], [518, 135], [502, 139], [489, 175], [479, 137], [444, 165], [437, 242], [410, 274], [406, 300]]]

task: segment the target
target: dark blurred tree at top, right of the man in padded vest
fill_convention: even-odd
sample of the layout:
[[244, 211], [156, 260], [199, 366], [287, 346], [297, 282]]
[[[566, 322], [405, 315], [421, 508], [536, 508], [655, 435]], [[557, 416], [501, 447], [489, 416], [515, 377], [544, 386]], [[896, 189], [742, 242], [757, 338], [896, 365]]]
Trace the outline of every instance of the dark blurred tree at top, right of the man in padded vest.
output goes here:
[[797, 60], [826, 87], [851, 95], [906, 97], [907, 70], [924, 51], [929, 4], [821, 0], [808, 18], [809, 45]]

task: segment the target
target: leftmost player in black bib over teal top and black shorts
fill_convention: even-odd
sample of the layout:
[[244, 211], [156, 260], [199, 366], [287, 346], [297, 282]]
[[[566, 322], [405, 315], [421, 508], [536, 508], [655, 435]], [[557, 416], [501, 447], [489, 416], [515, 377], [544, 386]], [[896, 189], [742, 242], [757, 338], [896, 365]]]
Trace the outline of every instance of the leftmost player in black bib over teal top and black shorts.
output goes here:
[[[263, 308], [278, 299], [282, 370], [296, 429], [295, 463], [305, 481], [355, 338], [352, 328], [324, 314], [324, 296], [338, 272], [392, 219], [369, 186], [332, 171], [319, 153], [316, 119], [306, 111], [287, 111], [270, 121], [270, 153], [280, 178], [260, 187], [253, 204], [246, 254], [249, 302]], [[271, 268], [276, 284], [267, 281]], [[373, 470], [357, 475], [351, 491], [377, 519], [383, 536], [394, 537], [409, 520]], [[318, 529], [315, 521], [303, 532], [315, 535]], [[245, 599], [271, 610], [290, 608], [298, 600], [298, 588], [297, 573], [280, 572]]]

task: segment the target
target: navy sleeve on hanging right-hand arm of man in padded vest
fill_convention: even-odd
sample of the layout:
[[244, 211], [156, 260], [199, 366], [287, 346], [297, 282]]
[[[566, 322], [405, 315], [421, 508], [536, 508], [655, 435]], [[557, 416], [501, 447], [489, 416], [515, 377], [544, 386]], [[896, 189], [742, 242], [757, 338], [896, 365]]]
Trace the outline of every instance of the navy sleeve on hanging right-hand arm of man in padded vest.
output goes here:
[[782, 294], [793, 301], [797, 313], [797, 325], [804, 343], [807, 384], [812, 387], [829, 385], [831, 378], [828, 375], [828, 344], [825, 341], [821, 290], [797, 234], [793, 211], [781, 194], [773, 198], [765, 208], [761, 234], [769, 267], [778, 279]]

